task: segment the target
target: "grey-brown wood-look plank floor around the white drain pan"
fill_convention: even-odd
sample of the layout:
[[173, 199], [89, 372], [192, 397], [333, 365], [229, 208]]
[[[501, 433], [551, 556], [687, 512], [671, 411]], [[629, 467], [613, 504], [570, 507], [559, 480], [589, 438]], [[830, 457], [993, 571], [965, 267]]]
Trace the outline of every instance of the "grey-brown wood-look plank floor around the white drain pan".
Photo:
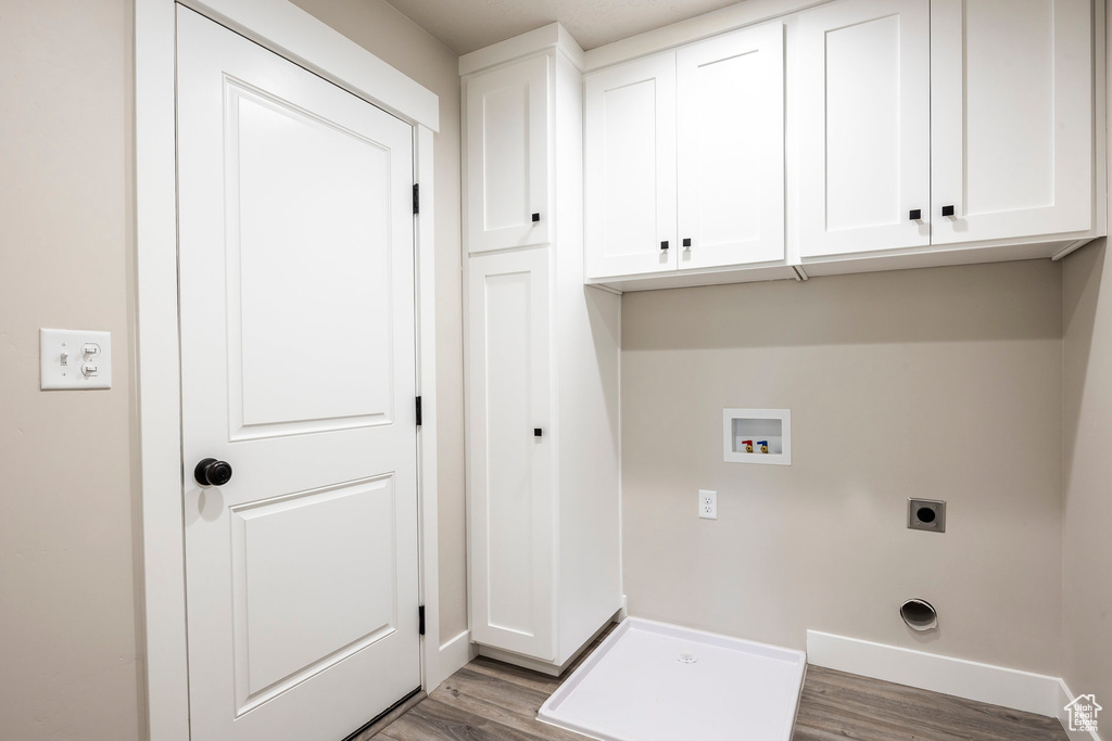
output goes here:
[[[580, 661], [588, 653], [586, 651]], [[570, 673], [568, 670], [564, 679]], [[480, 657], [375, 738], [383, 741], [583, 741], [582, 735], [536, 719], [540, 704], [560, 681]], [[1052, 718], [808, 667], [793, 741], [846, 739], [1068, 741], [1062, 727]]]

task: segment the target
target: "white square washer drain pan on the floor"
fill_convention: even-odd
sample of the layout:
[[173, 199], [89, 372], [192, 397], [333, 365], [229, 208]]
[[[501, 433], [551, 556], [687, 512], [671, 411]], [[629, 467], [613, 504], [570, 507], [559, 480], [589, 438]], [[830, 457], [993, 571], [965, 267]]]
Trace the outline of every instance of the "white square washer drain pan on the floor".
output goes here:
[[602, 741], [791, 741], [806, 654], [627, 618], [540, 707]]

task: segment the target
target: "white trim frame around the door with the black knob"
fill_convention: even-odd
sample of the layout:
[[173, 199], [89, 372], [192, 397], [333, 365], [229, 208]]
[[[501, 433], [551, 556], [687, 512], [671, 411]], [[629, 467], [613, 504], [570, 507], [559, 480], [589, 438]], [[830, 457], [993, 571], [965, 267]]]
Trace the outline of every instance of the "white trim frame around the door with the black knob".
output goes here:
[[[421, 685], [430, 692], [457, 669], [441, 653], [437, 527], [436, 282], [433, 134], [439, 99], [288, 0], [135, 0], [136, 242], [131, 357], [136, 368], [132, 477], [139, 489], [145, 663], [140, 705], [147, 738], [189, 741], [182, 519], [181, 375], [178, 332], [177, 23], [190, 8], [414, 126], [415, 320], [419, 593], [425, 605]], [[369, 720], [369, 719], [368, 719]]]

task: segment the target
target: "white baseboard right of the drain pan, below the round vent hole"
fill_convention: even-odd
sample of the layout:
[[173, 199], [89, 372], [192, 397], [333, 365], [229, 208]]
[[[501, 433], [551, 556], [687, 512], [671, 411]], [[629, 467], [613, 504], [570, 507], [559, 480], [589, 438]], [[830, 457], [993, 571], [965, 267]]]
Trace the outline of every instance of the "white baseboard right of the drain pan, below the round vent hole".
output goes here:
[[807, 662], [1048, 718], [1060, 718], [1064, 707], [1056, 677], [818, 631], [807, 631]]

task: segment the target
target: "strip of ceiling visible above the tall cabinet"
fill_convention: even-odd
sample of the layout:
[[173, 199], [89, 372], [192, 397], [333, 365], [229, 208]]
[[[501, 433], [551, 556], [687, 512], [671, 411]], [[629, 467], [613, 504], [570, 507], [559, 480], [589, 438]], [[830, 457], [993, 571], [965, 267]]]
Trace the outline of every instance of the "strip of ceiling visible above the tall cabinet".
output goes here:
[[738, 0], [388, 0], [457, 54], [559, 21], [584, 49]]

